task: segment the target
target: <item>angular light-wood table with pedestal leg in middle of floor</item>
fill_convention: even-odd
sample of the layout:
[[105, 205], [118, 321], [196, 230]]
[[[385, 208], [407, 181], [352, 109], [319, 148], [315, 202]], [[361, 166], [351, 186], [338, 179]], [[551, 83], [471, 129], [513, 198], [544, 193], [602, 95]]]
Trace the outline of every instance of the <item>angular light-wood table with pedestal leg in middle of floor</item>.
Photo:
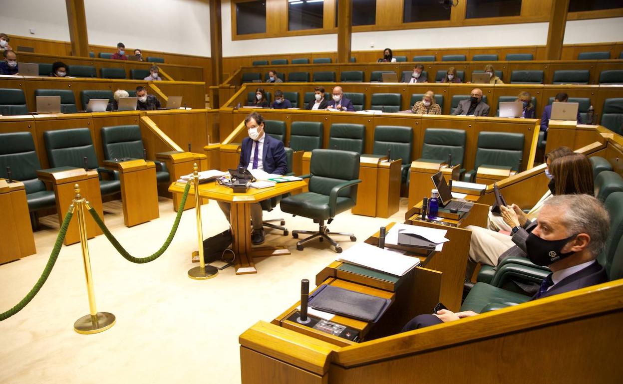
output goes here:
[[[231, 227], [234, 237], [232, 250], [235, 253], [236, 274], [257, 273], [253, 259], [256, 257], [290, 255], [284, 246], [251, 246], [251, 212], [250, 205], [271, 197], [287, 194], [305, 186], [303, 180], [278, 183], [275, 187], [254, 189], [244, 193], [234, 193], [231, 188], [209, 182], [199, 185], [199, 195], [207, 199], [231, 204]], [[186, 184], [174, 182], [169, 187], [171, 192], [184, 192]], [[189, 195], [193, 195], [191, 188]]]

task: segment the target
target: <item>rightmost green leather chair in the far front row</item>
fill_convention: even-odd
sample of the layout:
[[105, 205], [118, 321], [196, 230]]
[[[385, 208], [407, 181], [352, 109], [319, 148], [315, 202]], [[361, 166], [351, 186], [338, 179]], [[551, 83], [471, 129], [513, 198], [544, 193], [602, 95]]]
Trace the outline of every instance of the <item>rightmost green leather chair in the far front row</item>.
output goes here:
[[510, 167], [519, 171], [523, 157], [523, 133], [481, 132], [474, 169], [465, 172], [463, 181], [473, 182], [478, 167]]

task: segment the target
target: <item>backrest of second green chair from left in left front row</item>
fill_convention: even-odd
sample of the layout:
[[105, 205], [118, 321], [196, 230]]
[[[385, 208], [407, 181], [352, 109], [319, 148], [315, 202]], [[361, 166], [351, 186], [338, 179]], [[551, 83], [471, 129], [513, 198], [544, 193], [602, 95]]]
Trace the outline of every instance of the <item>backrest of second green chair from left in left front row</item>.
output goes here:
[[88, 128], [45, 131], [43, 138], [50, 167], [82, 168], [84, 157], [87, 157], [88, 169], [98, 167], [91, 131]]

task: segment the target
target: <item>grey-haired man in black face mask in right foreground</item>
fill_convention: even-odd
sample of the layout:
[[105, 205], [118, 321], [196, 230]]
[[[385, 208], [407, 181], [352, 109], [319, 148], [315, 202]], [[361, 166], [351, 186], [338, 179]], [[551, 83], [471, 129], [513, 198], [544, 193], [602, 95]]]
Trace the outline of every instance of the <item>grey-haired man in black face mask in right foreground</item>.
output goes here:
[[[526, 240], [526, 254], [530, 261], [548, 266], [552, 273], [530, 301], [608, 281], [606, 269], [595, 260], [606, 245], [610, 223], [599, 200], [589, 195], [554, 196], [545, 202], [536, 222]], [[473, 311], [454, 313], [442, 309], [414, 317], [402, 332], [477, 315]]]

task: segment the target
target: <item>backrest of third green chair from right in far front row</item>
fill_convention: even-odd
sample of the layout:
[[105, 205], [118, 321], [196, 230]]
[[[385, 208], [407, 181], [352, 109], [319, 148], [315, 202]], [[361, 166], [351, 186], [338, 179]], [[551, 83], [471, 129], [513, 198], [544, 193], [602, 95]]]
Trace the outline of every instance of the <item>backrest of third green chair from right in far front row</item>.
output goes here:
[[413, 131], [411, 127], [378, 125], [374, 128], [373, 154], [386, 155], [391, 149], [392, 159], [402, 159], [402, 164], [411, 164]]

